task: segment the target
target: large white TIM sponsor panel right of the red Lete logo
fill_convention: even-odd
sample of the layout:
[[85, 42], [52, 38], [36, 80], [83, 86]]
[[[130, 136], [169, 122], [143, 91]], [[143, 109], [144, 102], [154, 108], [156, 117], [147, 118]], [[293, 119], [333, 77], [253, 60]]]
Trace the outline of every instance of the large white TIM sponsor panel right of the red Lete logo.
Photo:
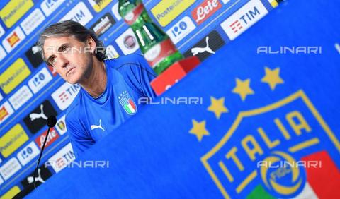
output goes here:
[[249, 1], [246, 5], [236, 11], [232, 16], [221, 23], [223, 30], [230, 40], [234, 40], [244, 30], [260, 20], [268, 13], [260, 0]]

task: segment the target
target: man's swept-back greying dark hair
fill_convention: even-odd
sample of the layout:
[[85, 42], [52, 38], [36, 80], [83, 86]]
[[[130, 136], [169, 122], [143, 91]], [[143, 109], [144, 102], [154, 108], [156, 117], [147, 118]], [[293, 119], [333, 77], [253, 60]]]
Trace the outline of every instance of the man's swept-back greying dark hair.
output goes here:
[[[104, 61], [106, 59], [106, 49], [103, 45], [103, 42], [98, 39], [94, 31], [87, 29], [80, 23], [73, 20], [65, 20], [62, 22], [54, 23], [49, 27], [45, 28], [45, 30], [40, 34], [38, 40], [38, 48], [40, 49], [40, 55], [42, 60], [47, 63], [43, 47], [46, 38], [49, 37], [65, 37], [65, 36], [74, 36], [79, 42], [85, 42], [87, 38], [90, 36], [96, 42], [96, 57], [99, 61]], [[97, 50], [100, 49], [100, 50]]]

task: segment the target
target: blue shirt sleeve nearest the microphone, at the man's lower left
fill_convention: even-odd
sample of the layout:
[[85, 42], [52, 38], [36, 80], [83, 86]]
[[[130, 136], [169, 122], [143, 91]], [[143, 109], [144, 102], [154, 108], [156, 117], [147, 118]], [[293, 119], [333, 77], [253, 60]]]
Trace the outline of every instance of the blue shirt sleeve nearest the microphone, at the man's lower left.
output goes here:
[[83, 128], [81, 128], [81, 122], [77, 120], [79, 116], [74, 116], [72, 112], [69, 112], [66, 115], [66, 126], [67, 133], [69, 134], [69, 140], [71, 140], [72, 148], [74, 151], [74, 155], [79, 157], [79, 155], [87, 150], [91, 145], [94, 145], [95, 142], [92, 140], [91, 136], [89, 136]]

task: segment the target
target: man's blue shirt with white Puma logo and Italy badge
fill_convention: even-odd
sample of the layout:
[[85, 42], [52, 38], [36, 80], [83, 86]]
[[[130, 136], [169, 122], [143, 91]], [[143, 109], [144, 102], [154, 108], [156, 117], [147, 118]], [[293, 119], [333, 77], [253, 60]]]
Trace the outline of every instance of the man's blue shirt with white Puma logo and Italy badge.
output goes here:
[[104, 62], [107, 83], [103, 94], [94, 98], [81, 88], [67, 109], [67, 132], [76, 157], [137, 114], [140, 97], [156, 96], [149, 83], [157, 75], [143, 56], [130, 54]]

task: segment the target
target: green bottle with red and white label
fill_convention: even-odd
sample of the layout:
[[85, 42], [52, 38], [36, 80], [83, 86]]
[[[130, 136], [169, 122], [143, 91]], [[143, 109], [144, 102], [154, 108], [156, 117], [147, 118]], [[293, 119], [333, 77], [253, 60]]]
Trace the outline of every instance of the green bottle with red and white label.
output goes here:
[[119, 0], [118, 11], [135, 32], [145, 59], [157, 74], [183, 59], [170, 37], [153, 23], [141, 0]]

